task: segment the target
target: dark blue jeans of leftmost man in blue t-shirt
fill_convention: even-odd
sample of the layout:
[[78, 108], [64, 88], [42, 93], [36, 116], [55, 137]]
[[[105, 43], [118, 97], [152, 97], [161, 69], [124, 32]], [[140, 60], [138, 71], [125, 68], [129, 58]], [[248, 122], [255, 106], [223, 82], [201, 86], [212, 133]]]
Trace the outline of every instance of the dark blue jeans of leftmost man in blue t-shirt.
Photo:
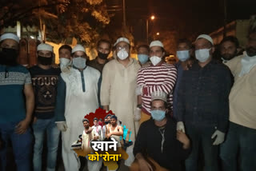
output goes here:
[[6, 149], [8, 141], [11, 141], [13, 146], [15, 163], [18, 171], [30, 171], [30, 160], [32, 152], [32, 135], [30, 128], [23, 134], [15, 133], [15, 126], [18, 123], [0, 123], [0, 132], [2, 141], [4, 142], [3, 149], [0, 150], [1, 170], [6, 170]]

